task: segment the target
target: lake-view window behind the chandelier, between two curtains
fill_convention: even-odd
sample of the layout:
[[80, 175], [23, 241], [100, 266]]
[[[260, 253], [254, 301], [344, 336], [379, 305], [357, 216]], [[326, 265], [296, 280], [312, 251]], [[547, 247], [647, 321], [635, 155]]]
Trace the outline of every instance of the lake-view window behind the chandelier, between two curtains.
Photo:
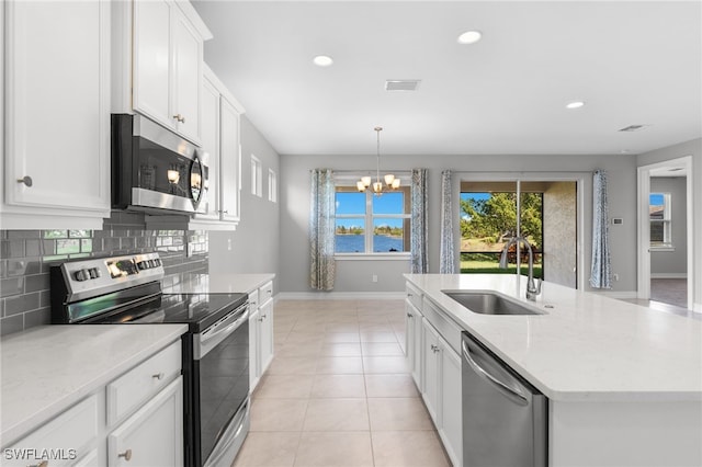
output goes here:
[[336, 252], [399, 253], [409, 251], [409, 186], [374, 195], [337, 185]]

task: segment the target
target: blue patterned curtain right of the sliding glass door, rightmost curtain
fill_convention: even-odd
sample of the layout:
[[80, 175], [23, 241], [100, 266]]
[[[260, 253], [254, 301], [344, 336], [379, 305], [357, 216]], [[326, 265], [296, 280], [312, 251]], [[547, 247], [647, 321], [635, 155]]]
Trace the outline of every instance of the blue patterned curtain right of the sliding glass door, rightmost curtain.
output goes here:
[[597, 170], [592, 174], [592, 267], [590, 285], [593, 288], [612, 288], [608, 226], [607, 172]]

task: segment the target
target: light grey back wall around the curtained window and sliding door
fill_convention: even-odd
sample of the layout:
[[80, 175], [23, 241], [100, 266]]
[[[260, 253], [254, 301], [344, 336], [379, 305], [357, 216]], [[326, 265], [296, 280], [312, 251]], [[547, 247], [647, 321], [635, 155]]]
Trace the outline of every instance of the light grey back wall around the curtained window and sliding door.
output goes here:
[[[309, 288], [309, 170], [367, 170], [374, 166], [372, 156], [281, 156], [281, 292], [305, 293]], [[624, 224], [610, 229], [612, 266], [620, 281], [613, 291], [635, 296], [636, 291], [636, 157], [614, 156], [382, 156], [382, 167], [390, 171], [412, 168], [429, 169], [429, 271], [439, 272], [441, 171], [461, 172], [582, 172], [585, 176], [586, 277], [589, 277], [591, 250], [592, 178], [596, 169], [608, 171], [610, 179], [610, 216], [623, 217]], [[458, 223], [455, 223], [456, 225]], [[456, 227], [457, 229], [457, 227]], [[337, 263], [335, 292], [401, 292], [401, 273], [409, 264], [401, 261], [358, 261]], [[370, 272], [377, 271], [378, 283], [370, 282]], [[586, 281], [587, 284], [587, 281]], [[589, 286], [586, 285], [586, 289]]]

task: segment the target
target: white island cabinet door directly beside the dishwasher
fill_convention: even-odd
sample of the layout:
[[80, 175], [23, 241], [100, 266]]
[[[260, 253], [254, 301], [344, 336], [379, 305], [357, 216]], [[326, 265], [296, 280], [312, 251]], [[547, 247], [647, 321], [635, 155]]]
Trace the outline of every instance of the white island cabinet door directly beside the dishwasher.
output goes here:
[[441, 428], [439, 435], [453, 465], [463, 465], [463, 408], [461, 356], [440, 339]]

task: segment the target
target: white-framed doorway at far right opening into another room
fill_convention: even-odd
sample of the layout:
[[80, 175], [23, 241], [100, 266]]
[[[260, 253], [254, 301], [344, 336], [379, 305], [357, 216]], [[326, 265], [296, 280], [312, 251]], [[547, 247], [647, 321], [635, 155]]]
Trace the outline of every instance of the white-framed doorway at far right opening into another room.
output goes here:
[[692, 157], [638, 168], [638, 299], [692, 309]]

